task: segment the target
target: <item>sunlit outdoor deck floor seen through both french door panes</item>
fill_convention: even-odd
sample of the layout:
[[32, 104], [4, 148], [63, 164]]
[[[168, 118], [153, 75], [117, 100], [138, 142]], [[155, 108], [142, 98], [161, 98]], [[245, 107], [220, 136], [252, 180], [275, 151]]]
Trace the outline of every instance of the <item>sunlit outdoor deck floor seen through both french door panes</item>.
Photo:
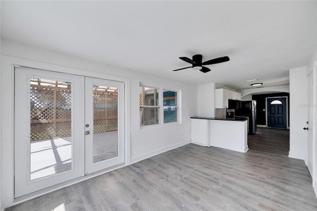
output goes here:
[[[94, 162], [117, 157], [117, 131], [95, 133], [93, 146]], [[32, 141], [30, 162], [31, 180], [70, 170], [70, 137]]]

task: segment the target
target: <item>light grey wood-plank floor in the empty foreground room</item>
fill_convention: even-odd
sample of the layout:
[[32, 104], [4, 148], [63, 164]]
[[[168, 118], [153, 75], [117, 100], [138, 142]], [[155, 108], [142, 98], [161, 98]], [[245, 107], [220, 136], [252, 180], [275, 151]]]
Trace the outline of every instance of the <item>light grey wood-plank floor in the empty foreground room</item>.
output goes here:
[[188, 144], [6, 211], [316, 211], [303, 160]]

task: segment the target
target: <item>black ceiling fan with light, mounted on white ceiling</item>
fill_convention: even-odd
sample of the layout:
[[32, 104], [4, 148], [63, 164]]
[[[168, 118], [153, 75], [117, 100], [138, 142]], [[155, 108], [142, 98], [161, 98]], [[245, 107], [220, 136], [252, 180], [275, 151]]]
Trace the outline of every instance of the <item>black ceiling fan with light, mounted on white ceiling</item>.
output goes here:
[[193, 59], [190, 59], [188, 57], [179, 57], [179, 58], [182, 59], [183, 61], [191, 63], [192, 66], [176, 69], [173, 71], [183, 70], [183, 69], [187, 69], [187, 68], [192, 67], [194, 70], [200, 70], [203, 73], [206, 73], [206, 72], [211, 71], [211, 69], [209, 69], [208, 67], [205, 67], [203, 65], [217, 64], [217, 63], [221, 63], [221, 62], [225, 62], [225, 61], [230, 60], [228, 56], [223, 56], [223, 57], [214, 58], [214, 59], [202, 62], [203, 56], [201, 54], [193, 55]]

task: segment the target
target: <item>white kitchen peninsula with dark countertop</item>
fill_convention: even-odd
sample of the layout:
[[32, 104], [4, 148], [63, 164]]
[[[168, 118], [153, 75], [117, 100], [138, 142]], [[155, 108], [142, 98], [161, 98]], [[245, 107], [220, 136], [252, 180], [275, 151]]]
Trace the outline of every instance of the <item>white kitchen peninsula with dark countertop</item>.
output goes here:
[[247, 122], [246, 118], [191, 117], [191, 142], [246, 153]]

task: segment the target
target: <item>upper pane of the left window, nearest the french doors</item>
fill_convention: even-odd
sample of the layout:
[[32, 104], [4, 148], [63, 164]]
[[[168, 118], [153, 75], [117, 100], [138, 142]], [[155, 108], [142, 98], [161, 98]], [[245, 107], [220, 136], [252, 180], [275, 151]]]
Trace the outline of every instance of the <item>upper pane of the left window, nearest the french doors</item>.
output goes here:
[[159, 106], [159, 90], [140, 87], [140, 106]]

